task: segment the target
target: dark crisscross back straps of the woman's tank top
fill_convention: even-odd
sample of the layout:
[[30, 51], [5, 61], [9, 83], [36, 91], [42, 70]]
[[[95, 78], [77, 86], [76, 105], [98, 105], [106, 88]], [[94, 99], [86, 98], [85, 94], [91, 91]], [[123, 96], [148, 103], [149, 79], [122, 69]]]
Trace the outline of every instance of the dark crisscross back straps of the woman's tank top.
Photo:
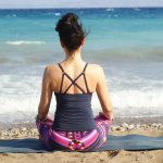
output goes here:
[[65, 89], [65, 91], [64, 91], [63, 93], [66, 93], [66, 91], [72, 87], [72, 85], [75, 85], [76, 87], [78, 87], [78, 89], [80, 89], [80, 91], [82, 91], [83, 93], [85, 93], [84, 89], [83, 89], [79, 85], [76, 84], [76, 80], [77, 80], [82, 75], [84, 75], [84, 79], [85, 79], [85, 85], [86, 85], [87, 92], [89, 92], [88, 85], [87, 85], [87, 79], [86, 79], [86, 75], [85, 75], [85, 71], [86, 71], [86, 67], [87, 67], [88, 63], [86, 63], [86, 65], [85, 65], [85, 67], [84, 67], [84, 70], [83, 70], [83, 72], [82, 72], [75, 79], [72, 79], [72, 77], [71, 77], [68, 74], [66, 74], [66, 73], [64, 72], [64, 70], [63, 70], [63, 67], [62, 67], [62, 65], [61, 65], [60, 63], [58, 63], [58, 64], [59, 64], [59, 67], [61, 68], [61, 71], [62, 71], [62, 79], [61, 79], [61, 86], [60, 86], [60, 93], [62, 92], [64, 76], [66, 76], [66, 77], [72, 82], [72, 84]]

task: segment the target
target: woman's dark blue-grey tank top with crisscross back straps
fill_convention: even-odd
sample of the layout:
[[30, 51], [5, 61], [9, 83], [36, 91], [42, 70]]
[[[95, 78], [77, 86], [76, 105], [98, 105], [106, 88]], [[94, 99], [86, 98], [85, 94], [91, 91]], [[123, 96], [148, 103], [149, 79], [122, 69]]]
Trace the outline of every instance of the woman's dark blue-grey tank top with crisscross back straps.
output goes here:
[[[65, 67], [63, 67], [61, 63], [58, 63], [58, 66], [61, 70], [62, 77], [58, 84], [60, 86], [60, 91], [54, 91], [57, 110], [52, 128], [55, 130], [79, 131], [95, 129], [96, 124], [91, 110], [92, 92], [89, 91], [86, 76], [89, 64], [85, 63], [82, 72], [78, 73], [75, 78], [72, 78], [67, 72], [65, 72]], [[74, 71], [72, 74], [75, 74], [76, 70], [72, 70]], [[67, 83], [65, 84], [65, 79], [68, 79], [71, 84], [67, 85], [68, 80], [66, 80]], [[80, 83], [77, 83], [79, 79]], [[72, 87], [74, 87], [73, 90], [76, 90], [76, 92], [67, 92]]]

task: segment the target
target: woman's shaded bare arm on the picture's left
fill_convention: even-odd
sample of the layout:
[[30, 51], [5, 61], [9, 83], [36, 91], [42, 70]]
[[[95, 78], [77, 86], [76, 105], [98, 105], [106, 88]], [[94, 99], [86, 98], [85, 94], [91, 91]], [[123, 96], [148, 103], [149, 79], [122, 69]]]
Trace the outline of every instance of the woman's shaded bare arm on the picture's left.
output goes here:
[[48, 66], [45, 68], [43, 77], [42, 77], [42, 90], [41, 90], [41, 97], [40, 97], [40, 102], [38, 106], [38, 118], [43, 120], [46, 118], [48, 112], [49, 112], [49, 106], [51, 102], [51, 97], [52, 97], [52, 89], [50, 85], [50, 71]]

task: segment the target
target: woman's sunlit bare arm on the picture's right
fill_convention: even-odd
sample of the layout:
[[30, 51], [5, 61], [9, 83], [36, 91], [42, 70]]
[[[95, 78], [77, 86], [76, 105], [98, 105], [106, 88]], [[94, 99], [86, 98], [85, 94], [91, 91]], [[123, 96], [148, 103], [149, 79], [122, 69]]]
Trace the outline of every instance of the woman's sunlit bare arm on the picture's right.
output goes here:
[[109, 96], [104, 72], [101, 66], [98, 68], [98, 83], [96, 91], [99, 97], [103, 114], [108, 118], [113, 120], [113, 106]]

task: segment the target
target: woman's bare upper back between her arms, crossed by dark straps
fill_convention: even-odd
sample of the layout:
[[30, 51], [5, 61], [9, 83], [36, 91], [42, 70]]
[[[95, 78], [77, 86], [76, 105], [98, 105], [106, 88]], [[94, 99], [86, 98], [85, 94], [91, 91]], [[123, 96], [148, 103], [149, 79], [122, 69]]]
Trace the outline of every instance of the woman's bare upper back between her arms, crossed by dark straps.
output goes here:
[[[66, 93], [95, 92], [98, 79], [97, 72], [98, 65], [87, 64], [84, 61], [68, 64], [63, 62], [50, 65], [49, 74], [52, 90], [60, 93], [65, 93], [65, 91]], [[72, 85], [74, 80], [75, 83]]]

